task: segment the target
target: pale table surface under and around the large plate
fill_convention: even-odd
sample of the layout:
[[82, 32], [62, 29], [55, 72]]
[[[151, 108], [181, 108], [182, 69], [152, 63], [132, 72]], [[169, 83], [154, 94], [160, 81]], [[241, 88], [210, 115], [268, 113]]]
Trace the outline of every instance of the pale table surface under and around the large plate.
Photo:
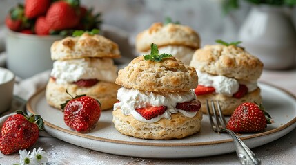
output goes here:
[[[296, 68], [288, 71], [264, 70], [260, 80], [286, 89], [296, 96]], [[296, 129], [278, 140], [252, 150], [259, 159], [262, 159], [262, 164], [295, 164], [295, 139]], [[54, 137], [40, 137], [32, 148], [38, 147], [48, 153], [50, 160], [61, 164], [239, 164], [236, 153], [195, 159], [143, 159], [91, 151]], [[18, 162], [19, 153], [12, 155], [0, 153], [1, 165]]]

